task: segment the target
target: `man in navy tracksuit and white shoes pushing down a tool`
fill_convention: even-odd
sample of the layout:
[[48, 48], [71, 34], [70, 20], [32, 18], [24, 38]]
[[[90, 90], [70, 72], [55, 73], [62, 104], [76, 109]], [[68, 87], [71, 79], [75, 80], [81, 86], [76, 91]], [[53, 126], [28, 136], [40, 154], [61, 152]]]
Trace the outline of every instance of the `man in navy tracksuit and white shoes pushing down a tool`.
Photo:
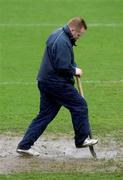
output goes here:
[[74, 62], [73, 46], [86, 30], [84, 19], [75, 17], [49, 36], [37, 76], [40, 111], [18, 144], [18, 153], [39, 155], [31, 146], [55, 118], [61, 106], [66, 107], [71, 113], [77, 148], [98, 142], [96, 139], [88, 139], [87, 103], [73, 86], [73, 76], [82, 76], [83, 73]]

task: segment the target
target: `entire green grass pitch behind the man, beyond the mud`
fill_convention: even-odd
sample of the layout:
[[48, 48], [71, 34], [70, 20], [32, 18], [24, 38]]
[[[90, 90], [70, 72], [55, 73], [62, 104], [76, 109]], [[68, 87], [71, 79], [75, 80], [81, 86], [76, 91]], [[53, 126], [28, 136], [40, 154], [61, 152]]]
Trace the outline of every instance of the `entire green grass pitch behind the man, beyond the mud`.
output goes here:
[[[45, 40], [56, 27], [80, 15], [89, 28], [74, 48], [75, 59], [84, 71], [83, 86], [93, 131], [97, 135], [120, 135], [122, 5], [121, 0], [0, 0], [0, 132], [21, 133], [36, 116], [39, 93], [34, 82]], [[98, 25], [92, 26], [93, 23]], [[105, 26], [106, 23], [116, 26]], [[62, 108], [47, 132], [72, 131], [70, 114]]]

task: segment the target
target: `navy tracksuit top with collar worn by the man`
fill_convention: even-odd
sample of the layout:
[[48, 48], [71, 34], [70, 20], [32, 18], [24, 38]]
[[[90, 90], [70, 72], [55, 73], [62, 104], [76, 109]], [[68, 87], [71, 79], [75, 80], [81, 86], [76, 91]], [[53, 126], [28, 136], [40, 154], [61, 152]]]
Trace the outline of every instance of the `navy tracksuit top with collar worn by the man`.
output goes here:
[[37, 80], [41, 82], [74, 83], [75, 62], [72, 37], [67, 25], [53, 32], [46, 41]]

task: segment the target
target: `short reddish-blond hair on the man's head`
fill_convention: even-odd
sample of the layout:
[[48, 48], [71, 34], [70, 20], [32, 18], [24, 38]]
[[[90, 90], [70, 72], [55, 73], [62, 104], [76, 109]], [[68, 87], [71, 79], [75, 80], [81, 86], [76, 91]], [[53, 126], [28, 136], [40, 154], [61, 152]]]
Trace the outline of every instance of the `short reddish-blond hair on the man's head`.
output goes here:
[[77, 30], [80, 30], [82, 27], [84, 27], [84, 29], [87, 30], [87, 24], [86, 24], [85, 20], [81, 17], [74, 17], [74, 18], [70, 19], [68, 21], [67, 25], [70, 28], [76, 28]]

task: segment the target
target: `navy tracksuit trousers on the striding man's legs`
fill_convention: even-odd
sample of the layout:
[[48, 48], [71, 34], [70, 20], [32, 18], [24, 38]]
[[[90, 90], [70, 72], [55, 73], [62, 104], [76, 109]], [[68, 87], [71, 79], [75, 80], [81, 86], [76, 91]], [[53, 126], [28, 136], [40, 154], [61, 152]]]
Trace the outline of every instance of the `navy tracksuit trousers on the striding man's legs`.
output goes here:
[[88, 108], [83, 97], [69, 83], [38, 82], [40, 90], [40, 111], [28, 127], [18, 148], [29, 149], [47, 125], [55, 118], [61, 106], [66, 107], [72, 117], [75, 145], [81, 145], [89, 134]]

